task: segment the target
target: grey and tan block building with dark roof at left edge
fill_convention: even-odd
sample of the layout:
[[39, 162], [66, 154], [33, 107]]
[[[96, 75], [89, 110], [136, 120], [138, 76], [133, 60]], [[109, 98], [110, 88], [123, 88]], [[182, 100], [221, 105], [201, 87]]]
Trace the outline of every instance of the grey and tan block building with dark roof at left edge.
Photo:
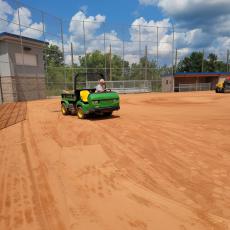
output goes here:
[[48, 43], [0, 34], [0, 103], [46, 97], [43, 48]]

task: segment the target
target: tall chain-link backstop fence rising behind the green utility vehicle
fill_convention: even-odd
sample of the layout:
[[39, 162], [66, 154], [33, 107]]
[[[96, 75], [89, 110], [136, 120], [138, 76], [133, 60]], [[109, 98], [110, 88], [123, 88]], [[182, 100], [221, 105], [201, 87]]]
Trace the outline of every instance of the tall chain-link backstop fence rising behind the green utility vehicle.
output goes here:
[[[4, 50], [6, 47], [1, 45], [0, 38], [0, 75], [43, 77], [48, 96], [58, 95], [62, 89], [71, 90], [75, 72], [86, 73], [79, 79], [81, 85], [98, 80], [87, 74], [97, 72], [110, 82], [127, 81], [124, 87], [127, 84], [135, 88], [133, 84], [138, 80], [149, 81], [149, 88], [160, 91], [161, 75], [172, 75], [178, 62], [188, 53], [203, 51], [201, 46], [192, 46], [189, 33], [175, 29], [167, 19], [155, 22], [139, 18], [130, 25], [119, 25], [108, 23], [100, 14], [87, 16], [78, 11], [66, 20], [17, 0], [2, 0], [0, 4], [0, 32], [18, 35], [19, 46], [18, 56], [11, 57], [12, 54], [7, 53], [9, 50]], [[196, 33], [193, 33], [193, 39], [194, 36]], [[199, 39], [199, 34], [197, 36]], [[27, 47], [25, 37], [40, 41], [43, 60], [34, 61], [34, 65], [34, 57], [27, 53], [31, 47], [36, 49], [37, 44], [31, 43]], [[36, 55], [36, 59], [41, 56]], [[38, 88], [43, 89], [42, 83], [39, 84]], [[22, 83], [17, 83], [16, 88], [19, 85]], [[24, 85], [21, 91], [25, 91]], [[34, 88], [31, 91], [32, 94]]]

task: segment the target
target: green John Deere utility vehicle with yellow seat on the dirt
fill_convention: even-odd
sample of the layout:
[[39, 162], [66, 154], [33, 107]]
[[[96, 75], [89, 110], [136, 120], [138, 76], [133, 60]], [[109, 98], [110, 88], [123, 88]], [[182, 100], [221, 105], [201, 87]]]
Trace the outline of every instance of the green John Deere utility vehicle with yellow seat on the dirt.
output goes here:
[[[103, 75], [100, 74], [100, 76]], [[110, 89], [105, 89], [100, 93], [96, 92], [96, 88], [77, 89], [78, 77], [79, 74], [74, 76], [74, 91], [61, 95], [61, 112], [63, 115], [77, 114], [79, 119], [84, 119], [89, 114], [111, 116], [113, 111], [120, 109], [120, 99], [116, 92]]]

